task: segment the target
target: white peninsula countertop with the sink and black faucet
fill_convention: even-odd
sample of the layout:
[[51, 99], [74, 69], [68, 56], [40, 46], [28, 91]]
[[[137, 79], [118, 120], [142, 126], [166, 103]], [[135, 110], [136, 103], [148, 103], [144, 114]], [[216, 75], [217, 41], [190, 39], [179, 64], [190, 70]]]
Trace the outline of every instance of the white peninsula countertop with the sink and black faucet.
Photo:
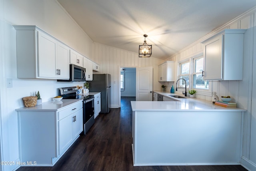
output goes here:
[[[179, 95], [154, 91], [168, 98], [169, 95]], [[184, 95], [180, 95], [184, 96]], [[174, 98], [179, 101], [131, 101], [132, 111], [246, 111], [240, 108], [229, 108], [214, 105], [211, 101], [196, 98]]]

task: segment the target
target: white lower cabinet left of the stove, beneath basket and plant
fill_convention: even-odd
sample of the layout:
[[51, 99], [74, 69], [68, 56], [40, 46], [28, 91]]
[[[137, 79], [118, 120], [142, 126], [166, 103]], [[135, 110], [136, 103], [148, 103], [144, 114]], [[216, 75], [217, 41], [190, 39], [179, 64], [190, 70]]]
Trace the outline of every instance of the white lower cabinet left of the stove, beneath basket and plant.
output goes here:
[[54, 102], [49, 101], [42, 103], [41, 108], [16, 109], [21, 162], [36, 161], [37, 166], [53, 166], [68, 150], [83, 130], [82, 101], [71, 104], [68, 102], [65, 107], [63, 102], [64, 107], [56, 109], [52, 107]]

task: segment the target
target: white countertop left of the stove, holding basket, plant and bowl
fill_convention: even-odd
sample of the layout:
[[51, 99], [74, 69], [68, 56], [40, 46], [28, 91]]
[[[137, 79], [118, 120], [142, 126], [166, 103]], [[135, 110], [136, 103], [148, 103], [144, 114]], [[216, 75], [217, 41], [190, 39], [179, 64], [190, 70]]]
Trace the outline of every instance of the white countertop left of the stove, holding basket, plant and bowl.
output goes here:
[[16, 111], [59, 111], [66, 107], [79, 103], [82, 99], [62, 99], [60, 101], [46, 101], [42, 105], [36, 105], [34, 107], [21, 107], [15, 109]]

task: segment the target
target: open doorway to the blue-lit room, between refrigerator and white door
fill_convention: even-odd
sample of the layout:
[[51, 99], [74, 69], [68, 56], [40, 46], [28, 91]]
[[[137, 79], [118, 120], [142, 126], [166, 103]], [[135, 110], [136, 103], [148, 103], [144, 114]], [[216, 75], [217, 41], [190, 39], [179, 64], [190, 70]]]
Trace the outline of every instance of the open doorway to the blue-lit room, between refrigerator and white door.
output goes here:
[[[121, 98], [136, 97], [136, 67], [120, 66], [118, 81], [118, 107], [121, 107]], [[134, 98], [133, 98], [134, 97]]]

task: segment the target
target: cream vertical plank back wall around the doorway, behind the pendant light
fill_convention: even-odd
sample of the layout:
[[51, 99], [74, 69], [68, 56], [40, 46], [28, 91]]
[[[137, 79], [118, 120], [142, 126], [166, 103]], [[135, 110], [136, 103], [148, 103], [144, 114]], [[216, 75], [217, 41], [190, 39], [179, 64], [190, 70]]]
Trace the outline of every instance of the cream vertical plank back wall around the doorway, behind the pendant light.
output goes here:
[[112, 107], [119, 106], [119, 68], [120, 67], [153, 67], [153, 90], [160, 90], [161, 84], [157, 81], [157, 66], [163, 60], [150, 58], [139, 58], [138, 53], [129, 52], [119, 48], [106, 46], [94, 42], [94, 50], [91, 60], [100, 65], [100, 72], [97, 74], [111, 74], [111, 103]]

